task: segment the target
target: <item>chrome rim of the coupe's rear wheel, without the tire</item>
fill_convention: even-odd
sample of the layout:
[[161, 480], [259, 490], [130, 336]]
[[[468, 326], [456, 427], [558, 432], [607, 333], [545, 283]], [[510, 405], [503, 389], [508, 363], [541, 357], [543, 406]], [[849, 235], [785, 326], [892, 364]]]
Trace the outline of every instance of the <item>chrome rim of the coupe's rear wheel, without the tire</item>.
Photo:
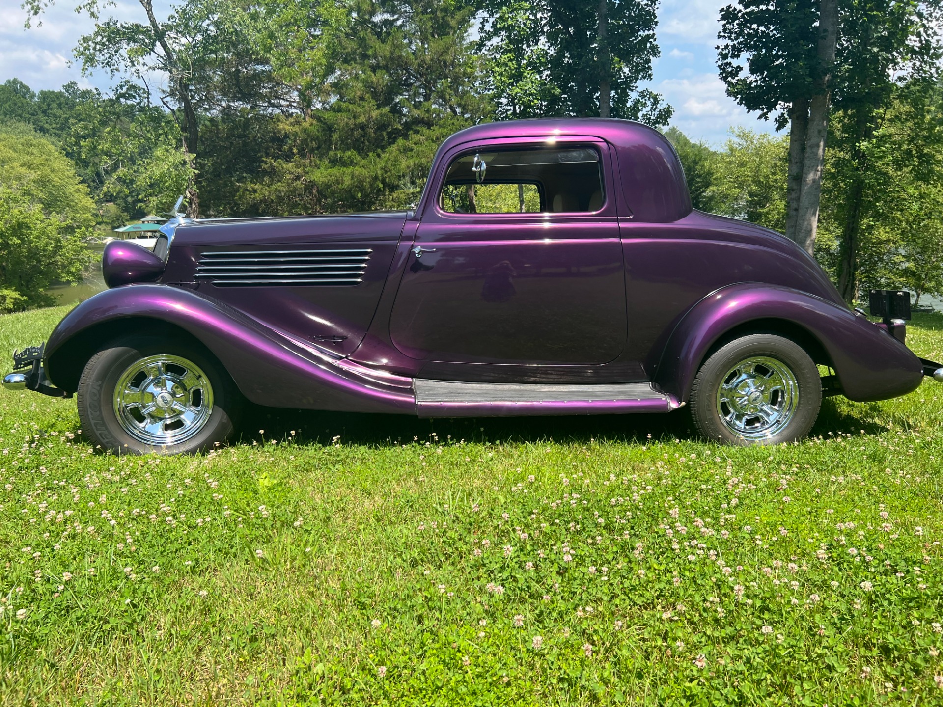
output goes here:
[[777, 435], [799, 405], [799, 383], [782, 361], [751, 356], [727, 371], [717, 391], [723, 424], [744, 439]]

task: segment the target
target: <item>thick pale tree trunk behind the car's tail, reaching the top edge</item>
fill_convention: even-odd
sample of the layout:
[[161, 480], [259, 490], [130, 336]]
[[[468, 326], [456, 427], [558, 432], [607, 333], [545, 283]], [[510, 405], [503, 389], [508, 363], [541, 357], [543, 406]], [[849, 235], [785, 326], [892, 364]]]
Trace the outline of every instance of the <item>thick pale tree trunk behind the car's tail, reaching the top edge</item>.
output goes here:
[[802, 190], [799, 195], [799, 211], [796, 214], [796, 242], [810, 255], [815, 250], [816, 229], [819, 226], [819, 196], [822, 165], [825, 161], [825, 138], [828, 135], [829, 99], [837, 37], [837, 0], [820, 0], [818, 76], [816, 92], [809, 102], [809, 123], [802, 159]]

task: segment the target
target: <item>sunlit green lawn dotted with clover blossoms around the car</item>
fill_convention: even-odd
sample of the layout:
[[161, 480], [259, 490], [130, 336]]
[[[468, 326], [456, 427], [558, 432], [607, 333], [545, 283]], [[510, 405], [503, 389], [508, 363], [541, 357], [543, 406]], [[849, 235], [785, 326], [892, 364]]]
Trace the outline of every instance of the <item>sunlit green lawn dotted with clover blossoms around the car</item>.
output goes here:
[[[943, 358], [943, 317], [910, 344]], [[941, 410], [832, 399], [728, 449], [684, 412], [253, 409], [238, 446], [119, 458], [0, 391], [0, 701], [940, 704]]]

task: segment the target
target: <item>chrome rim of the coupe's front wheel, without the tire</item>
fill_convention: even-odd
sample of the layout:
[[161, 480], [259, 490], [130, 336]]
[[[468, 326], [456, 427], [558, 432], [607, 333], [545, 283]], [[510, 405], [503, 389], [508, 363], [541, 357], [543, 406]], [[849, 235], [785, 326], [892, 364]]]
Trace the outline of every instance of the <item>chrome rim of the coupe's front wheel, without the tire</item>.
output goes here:
[[118, 379], [114, 410], [124, 432], [144, 444], [179, 444], [207, 423], [213, 411], [213, 386], [207, 374], [186, 358], [147, 356]]

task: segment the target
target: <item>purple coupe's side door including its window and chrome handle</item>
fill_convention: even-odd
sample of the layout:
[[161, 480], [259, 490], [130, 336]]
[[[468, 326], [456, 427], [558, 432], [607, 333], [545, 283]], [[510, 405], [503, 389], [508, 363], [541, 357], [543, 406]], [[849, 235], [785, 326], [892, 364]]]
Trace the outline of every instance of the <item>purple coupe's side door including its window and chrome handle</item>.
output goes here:
[[391, 311], [394, 346], [458, 364], [616, 359], [626, 303], [607, 145], [492, 140], [442, 162]]

